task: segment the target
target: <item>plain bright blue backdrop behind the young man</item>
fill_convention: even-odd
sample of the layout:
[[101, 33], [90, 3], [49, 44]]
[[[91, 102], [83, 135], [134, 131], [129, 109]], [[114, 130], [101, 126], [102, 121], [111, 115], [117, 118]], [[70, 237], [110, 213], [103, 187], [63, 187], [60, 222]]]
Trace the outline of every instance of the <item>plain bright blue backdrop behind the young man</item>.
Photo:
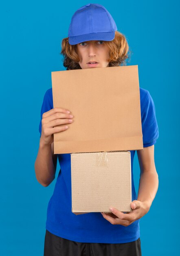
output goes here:
[[[35, 178], [40, 108], [51, 72], [63, 67], [61, 40], [73, 13], [87, 1], [7, 1], [0, 8], [2, 256], [43, 255], [48, 187]], [[159, 138], [155, 164], [159, 188], [150, 211], [140, 220], [142, 255], [178, 255], [178, 164], [180, 38], [179, 1], [98, 1], [125, 34], [138, 65], [140, 87], [156, 107]], [[59, 164], [57, 172], [59, 172]], [[140, 168], [134, 160], [138, 192]], [[57, 177], [57, 176], [56, 176]]]

